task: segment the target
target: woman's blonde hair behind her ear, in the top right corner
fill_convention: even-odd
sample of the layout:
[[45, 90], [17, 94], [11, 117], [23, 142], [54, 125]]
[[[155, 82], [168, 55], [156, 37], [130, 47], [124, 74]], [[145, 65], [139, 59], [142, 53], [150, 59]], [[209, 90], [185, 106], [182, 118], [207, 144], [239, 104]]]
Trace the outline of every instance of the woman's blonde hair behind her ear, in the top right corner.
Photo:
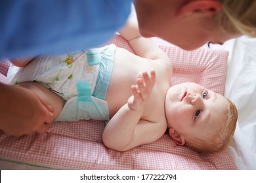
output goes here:
[[220, 0], [222, 9], [215, 14], [215, 24], [227, 33], [256, 37], [256, 1]]

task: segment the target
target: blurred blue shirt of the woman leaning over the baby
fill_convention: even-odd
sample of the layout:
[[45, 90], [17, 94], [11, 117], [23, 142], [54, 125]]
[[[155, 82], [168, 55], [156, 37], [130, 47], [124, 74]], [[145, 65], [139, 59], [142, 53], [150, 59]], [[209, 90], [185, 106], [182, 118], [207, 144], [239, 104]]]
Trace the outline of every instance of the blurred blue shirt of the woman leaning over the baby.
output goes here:
[[0, 58], [63, 54], [108, 41], [131, 0], [1, 0]]

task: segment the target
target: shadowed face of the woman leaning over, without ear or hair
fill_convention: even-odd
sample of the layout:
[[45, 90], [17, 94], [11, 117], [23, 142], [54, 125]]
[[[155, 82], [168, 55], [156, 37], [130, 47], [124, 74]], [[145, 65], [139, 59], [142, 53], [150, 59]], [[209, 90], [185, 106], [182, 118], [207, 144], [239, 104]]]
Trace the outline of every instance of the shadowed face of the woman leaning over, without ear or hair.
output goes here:
[[[140, 33], [144, 37], [160, 37], [184, 50], [194, 50], [206, 42], [223, 44], [240, 34], [224, 33], [213, 27], [211, 16], [193, 14], [178, 17], [178, 1], [175, 0], [136, 0], [135, 7]], [[179, 2], [178, 2], [179, 3]]]

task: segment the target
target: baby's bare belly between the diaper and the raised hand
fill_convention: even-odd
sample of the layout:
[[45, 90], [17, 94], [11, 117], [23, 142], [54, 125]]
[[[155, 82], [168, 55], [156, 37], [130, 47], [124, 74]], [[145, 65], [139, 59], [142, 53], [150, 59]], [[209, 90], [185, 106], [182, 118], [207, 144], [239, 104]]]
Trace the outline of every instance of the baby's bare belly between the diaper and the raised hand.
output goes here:
[[143, 71], [152, 71], [152, 64], [148, 62], [150, 61], [147, 59], [135, 56], [122, 48], [117, 48], [112, 78], [106, 93], [110, 118], [131, 97], [131, 86], [136, 84], [137, 75]]

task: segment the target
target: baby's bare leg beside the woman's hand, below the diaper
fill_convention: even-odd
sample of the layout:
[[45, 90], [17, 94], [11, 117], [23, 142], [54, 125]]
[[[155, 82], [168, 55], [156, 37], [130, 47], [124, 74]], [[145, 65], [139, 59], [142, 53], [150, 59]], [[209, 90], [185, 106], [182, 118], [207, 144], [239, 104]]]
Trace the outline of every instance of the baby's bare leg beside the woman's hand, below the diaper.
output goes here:
[[62, 108], [66, 103], [66, 101], [62, 99], [62, 97], [56, 95], [56, 93], [52, 92], [42, 84], [39, 84], [38, 82], [24, 82], [24, 83], [18, 84], [18, 87], [23, 87], [37, 93], [37, 95], [43, 101], [45, 101], [48, 105], [51, 105], [54, 108], [54, 112], [53, 112], [54, 120], [58, 118]]

